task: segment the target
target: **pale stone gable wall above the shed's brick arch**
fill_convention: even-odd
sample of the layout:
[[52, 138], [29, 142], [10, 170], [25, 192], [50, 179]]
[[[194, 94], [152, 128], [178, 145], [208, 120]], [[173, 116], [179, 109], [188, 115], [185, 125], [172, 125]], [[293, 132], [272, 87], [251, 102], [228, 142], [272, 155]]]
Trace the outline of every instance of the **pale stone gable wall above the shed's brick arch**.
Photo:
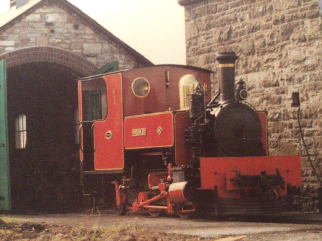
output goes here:
[[97, 67], [114, 60], [119, 61], [120, 69], [138, 66], [124, 49], [94, 33], [56, 5], [44, 5], [0, 33], [0, 53], [40, 45], [69, 50]]

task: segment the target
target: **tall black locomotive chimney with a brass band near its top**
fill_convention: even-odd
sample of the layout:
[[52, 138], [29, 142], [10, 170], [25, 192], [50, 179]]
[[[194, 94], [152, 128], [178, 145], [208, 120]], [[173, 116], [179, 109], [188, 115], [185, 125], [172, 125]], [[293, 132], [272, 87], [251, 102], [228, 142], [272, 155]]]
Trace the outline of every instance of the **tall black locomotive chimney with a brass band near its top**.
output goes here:
[[235, 52], [218, 53], [219, 103], [225, 103], [235, 98], [235, 62], [238, 56]]

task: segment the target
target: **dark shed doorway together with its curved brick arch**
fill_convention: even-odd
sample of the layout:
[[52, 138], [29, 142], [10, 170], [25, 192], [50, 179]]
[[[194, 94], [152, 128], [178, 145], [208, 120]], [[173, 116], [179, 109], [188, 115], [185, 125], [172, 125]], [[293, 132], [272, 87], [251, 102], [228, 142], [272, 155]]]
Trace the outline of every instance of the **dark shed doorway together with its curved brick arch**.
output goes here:
[[90, 75], [96, 67], [52, 47], [17, 49], [1, 58], [7, 62], [13, 209], [61, 210], [77, 204], [75, 79]]

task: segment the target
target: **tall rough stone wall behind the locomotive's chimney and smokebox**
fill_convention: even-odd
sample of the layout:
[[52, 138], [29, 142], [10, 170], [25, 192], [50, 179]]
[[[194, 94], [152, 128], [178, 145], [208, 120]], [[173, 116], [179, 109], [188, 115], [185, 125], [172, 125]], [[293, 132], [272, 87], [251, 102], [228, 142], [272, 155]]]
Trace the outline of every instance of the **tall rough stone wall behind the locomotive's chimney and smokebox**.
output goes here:
[[[190, 1], [194, 2], [194, 1]], [[200, 1], [199, 1], [200, 2]], [[206, 0], [185, 7], [187, 64], [216, 71], [217, 51], [235, 51], [236, 80], [248, 101], [268, 112], [270, 155], [301, 155], [299, 209], [317, 210], [321, 187], [312, 172], [291, 108], [322, 177], [322, 18], [318, 0]], [[216, 86], [215, 86], [216, 88]]]

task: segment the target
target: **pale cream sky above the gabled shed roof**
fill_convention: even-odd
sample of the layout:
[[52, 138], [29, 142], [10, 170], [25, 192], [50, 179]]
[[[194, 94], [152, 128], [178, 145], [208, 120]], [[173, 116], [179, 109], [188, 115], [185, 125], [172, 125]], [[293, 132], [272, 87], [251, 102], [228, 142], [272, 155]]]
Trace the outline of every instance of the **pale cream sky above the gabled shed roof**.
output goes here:
[[[177, 0], [68, 0], [154, 64], [185, 64], [184, 7]], [[0, 14], [10, 0], [0, 0]]]

